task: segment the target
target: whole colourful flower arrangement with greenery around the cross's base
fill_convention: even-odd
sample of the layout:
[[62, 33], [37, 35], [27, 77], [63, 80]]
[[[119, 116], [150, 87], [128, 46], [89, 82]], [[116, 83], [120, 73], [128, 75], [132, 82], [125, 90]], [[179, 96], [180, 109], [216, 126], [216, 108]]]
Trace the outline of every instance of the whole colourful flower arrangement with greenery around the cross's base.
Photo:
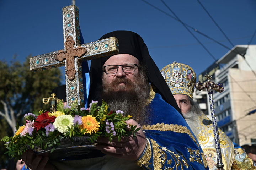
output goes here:
[[102, 136], [112, 141], [122, 136], [133, 135], [140, 128], [127, 125], [126, 121], [132, 116], [124, 115], [123, 111], [108, 109], [106, 102], [101, 106], [97, 101], [92, 101], [89, 108], [73, 103], [71, 106], [57, 104], [56, 112], [39, 111], [27, 113], [24, 116], [25, 124], [16, 126], [13, 137], [5, 136], [1, 141], [11, 157], [21, 159], [21, 155], [28, 149], [51, 149], [51, 153], [57, 148], [62, 139], [88, 136], [92, 143]]

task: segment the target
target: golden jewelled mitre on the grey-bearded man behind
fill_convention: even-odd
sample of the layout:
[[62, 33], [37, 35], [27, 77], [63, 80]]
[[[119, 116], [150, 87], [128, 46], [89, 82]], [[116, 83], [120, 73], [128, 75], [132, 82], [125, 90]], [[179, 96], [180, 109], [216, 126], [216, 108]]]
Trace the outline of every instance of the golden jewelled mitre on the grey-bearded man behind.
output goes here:
[[196, 73], [190, 66], [174, 61], [162, 68], [161, 73], [172, 94], [185, 94], [193, 99]]

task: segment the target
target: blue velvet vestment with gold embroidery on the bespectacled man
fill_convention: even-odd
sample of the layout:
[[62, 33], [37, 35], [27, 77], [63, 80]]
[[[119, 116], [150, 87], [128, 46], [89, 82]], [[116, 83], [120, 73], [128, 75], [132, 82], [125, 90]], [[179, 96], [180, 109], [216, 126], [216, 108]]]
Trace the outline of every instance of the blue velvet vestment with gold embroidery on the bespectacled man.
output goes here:
[[[152, 94], [153, 93], [153, 94]], [[148, 170], [204, 170], [207, 161], [185, 119], [160, 94], [150, 92], [152, 122], [142, 126], [147, 146], [137, 165]]]

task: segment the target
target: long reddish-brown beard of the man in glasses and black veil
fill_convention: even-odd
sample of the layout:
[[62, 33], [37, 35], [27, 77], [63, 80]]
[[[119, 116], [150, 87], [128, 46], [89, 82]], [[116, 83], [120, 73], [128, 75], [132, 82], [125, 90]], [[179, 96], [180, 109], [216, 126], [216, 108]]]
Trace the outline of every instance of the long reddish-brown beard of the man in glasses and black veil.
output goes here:
[[131, 115], [140, 125], [149, 124], [151, 119], [147, 102], [150, 86], [144, 74], [140, 73], [135, 82], [126, 77], [116, 78], [110, 84], [104, 78], [102, 80], [101, 96], [111, 110], [121, 110], [124, 114]]

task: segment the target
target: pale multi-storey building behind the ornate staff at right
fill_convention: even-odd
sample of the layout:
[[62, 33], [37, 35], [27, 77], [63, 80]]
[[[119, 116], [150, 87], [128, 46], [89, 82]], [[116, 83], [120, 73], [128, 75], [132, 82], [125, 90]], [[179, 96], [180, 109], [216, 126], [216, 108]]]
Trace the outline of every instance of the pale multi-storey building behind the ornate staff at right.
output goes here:
[[[256, 45], [236, 45], [216, 64], [211, 74], [224, 87], [213, 94], [218, 127], [235, 143], [256, 144], [256, 113], [247, 115], [256, 109]], [[207, 92], [196, 91], [194, 98], [211, 117]]]

